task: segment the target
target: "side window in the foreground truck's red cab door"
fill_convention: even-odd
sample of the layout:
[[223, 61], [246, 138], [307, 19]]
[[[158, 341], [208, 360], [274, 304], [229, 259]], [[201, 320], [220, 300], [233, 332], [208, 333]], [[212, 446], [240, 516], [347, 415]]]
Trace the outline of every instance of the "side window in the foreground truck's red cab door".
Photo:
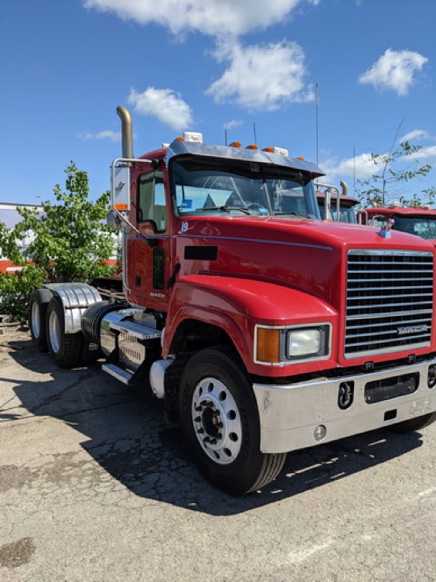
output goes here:
[[165, 189], [162, 175], [152, 172], [141, 176], [138, 196], [138, 222], [153, 221], [156, 232], [166, 229]]

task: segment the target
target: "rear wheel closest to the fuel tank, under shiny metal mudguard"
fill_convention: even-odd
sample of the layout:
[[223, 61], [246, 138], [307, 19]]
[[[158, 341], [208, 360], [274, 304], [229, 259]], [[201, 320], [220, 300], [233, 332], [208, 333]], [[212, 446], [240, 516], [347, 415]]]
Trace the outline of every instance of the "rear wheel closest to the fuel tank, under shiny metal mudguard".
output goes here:
[[50, 300], [47, 308], [47, 344], [55, 363], [60, 368], [69, 368], [79, 360], [83, 335], [65, 333], [65, 318], [61, 301]]

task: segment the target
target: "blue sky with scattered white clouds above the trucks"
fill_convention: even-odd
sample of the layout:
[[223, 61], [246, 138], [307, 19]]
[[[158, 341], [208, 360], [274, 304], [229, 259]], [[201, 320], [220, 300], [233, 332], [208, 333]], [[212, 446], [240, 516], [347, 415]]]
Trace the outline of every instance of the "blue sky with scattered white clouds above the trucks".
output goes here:
[[[91, 197], [120, 155], [183, 129], [207, 143], [278, 145], [328, 180], [364, 177], [368, 154], [411, 134], [436, 163], [433, 0], [20, 0], [2, 8], [0, 201], [39, 203], [73, 159]], [[356, 161], [353, 161], [353, 147]], [[436, 186], [436, 172], [410, 191]]]

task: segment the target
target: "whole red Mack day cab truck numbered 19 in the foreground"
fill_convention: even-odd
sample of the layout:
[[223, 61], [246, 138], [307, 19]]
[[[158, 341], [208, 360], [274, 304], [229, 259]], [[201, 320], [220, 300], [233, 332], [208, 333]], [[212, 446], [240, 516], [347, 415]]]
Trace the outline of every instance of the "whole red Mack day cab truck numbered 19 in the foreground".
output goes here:
[[38, 347], [61, 366], [150, 384], [201, 473], [233, 495], [286, 453], [436, 418], [434, 247], [320, 220], [314, 164], [201, 135], [135, 158], [122, 119], [109, 222], [126, 300], [78, 283], [31, 297]]

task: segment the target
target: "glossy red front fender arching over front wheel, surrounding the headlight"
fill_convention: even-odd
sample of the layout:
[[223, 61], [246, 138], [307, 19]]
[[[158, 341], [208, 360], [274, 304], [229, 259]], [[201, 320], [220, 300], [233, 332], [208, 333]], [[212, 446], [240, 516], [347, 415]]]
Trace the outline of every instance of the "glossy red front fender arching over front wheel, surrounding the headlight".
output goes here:
[[302, 291], [253, 279], [217, 275], [185, 275], [175, 283], [162, 346], [168, 357], [179, 325], [187, 319], [215, 325], [231, 338], [251, 374], [284, 377], [337, 367], [329, 360], [281, 367], [254, 363], [254, 327], [263, 325], [332, 324], [332, 349], [337, 345], [338, 313], [324, 300]]

